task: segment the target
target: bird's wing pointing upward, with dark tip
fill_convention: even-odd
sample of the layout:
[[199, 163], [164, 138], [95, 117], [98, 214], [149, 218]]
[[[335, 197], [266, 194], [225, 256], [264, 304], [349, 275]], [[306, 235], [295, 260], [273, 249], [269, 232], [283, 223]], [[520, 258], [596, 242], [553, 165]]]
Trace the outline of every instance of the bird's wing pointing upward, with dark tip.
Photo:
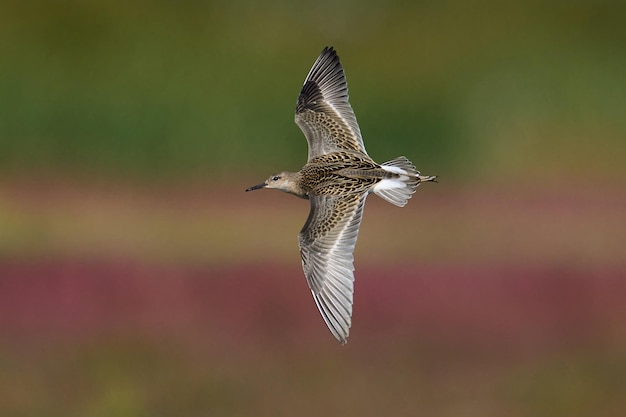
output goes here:
[[309, 71], [296, 105], [296, 124], [309, 143], [309, 161], [337, 150], [365, 152], [348, 102], [348, 84], [337, 53], [326, 47]]

